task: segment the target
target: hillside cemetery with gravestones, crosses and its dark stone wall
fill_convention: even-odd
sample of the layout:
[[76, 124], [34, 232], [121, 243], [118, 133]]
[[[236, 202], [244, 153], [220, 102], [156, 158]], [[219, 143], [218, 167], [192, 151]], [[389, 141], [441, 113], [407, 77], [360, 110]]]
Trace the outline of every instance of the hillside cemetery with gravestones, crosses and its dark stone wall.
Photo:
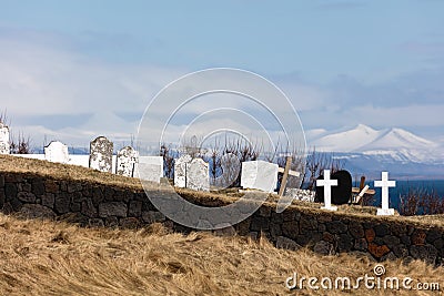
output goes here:
[[[250, 217], [215, 227], [213, 233], [253, 239], [265, 236], [276, 247], [309, 246], [323, 255], [353, 253], [367, 254], [376, 261], [418, 258], [443, 263], [443, 223], [394, 215], [389, 188], [395, 186], [395, 181], [387, 172], [382, 172], [381, 181], [374, 183], [374, 187], [382, 188], [381, 208], [353, 204], [350, 173], [331, 174], [325, 170], [317, 177], [314, 192], [289, 187], [285, 193], [296, 201], [278, 213], [276, 202], [284, 194], [278, 188], [279, 174], [283, 174], [281, 184], [286, 177], [299, 175], [290, 170], [289, 162], [285, 167], [260, 160], [243, 162], [241, 188], [230, 195], [210, 185], [209, 163], [202, 159], [181, 155], [174, 162], [174, 178], [168, 180], [163, 177], [162, 156], [140, 156], [130, 146], [113, 155], [113, 143], [104, 136], [92, 140], [90, 147], [90, 155], [77, 155], [82, 156], [81, 161], [69, 155], [60, 142], [51, 142], [44, 155], [0, 155], [2, 212], [67, 220], [82, 226], [139, 228], [162, 223], [173, 231], [190, 233], [195, 229], [165, 216], [150, 198], [169, 200], [179, 193], [193, 204], [214, 207], [235, 202], [243, 192], [263, 192], [268, 194], [266, 202]], [[141, 182], [151, 187], [142, 188]], [[354, 197], [362, 197], [369, 186], [354, 191], [359, 192]]]

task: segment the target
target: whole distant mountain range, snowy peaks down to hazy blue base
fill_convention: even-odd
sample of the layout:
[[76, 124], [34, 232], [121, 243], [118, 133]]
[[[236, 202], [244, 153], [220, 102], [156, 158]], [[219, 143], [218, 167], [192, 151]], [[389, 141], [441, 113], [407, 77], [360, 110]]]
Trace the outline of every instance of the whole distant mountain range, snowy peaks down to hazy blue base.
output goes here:
[[402, 129], [374, 130], [360, 124], [351, 130], [305, 133], [309, 147], [334, 153], [356, 173], [381, 170], [405, 178], [444, 178], [444, 145]]

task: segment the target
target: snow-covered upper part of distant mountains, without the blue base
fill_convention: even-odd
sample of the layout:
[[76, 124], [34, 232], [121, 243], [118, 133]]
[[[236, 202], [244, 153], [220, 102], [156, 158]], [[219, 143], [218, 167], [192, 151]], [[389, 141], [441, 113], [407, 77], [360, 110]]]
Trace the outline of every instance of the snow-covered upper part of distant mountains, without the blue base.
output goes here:
[[384, 163], [444, 164], [444, 145], [402, 129], [374, 130], [360, 124], [351, 130], [306, 133], [309, 146], [341, 153], [345, 159], [365, 155]]

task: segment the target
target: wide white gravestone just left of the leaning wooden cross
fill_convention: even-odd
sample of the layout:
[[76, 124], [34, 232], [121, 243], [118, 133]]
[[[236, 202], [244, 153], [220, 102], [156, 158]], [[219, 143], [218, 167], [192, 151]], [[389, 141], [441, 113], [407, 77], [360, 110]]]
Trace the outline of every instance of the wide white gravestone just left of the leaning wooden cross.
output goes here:
[[273, 192], [278, 185], [278, 164], [264, 161], [242, 163], [241, 186]]

